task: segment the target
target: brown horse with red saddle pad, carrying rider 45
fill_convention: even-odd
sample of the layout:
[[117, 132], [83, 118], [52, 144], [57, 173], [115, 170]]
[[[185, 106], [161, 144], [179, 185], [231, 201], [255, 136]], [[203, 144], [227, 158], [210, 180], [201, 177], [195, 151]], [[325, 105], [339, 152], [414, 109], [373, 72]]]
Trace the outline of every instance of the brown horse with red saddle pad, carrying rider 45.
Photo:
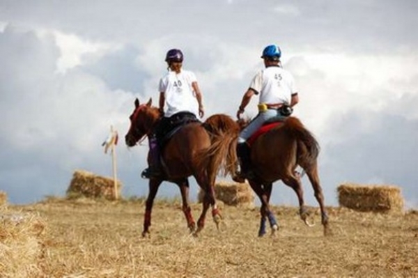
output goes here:
[[[239, 124], [236, 123], [236, 125]], [[231, 133], [230, 136], [235, 138], [234, 144], [232, 144], [235, 147], [238, 132]], [[272, 183], [277, 180], [282, 180], [296, 192], [300, 205], [300, 217], [307, 225], [311, 226], [307, 222], [309, 214], [304, 206], [300, 175], [295, 171], [298, 165], [307, 173], [309, 181], [314, 187], [314, 194], [320, 206], [324, 234], [330, 234], [328, 216], [325, 211], [324, 197], [318, 176], [318, 153], [318, 142], [295, 117], [286, 118], [276, 128], [261, 134], [252, 142], [251, 164], [255, 175], [248, 181], [261, 201], [261, 224], [258, 236], [265, 235], [266, 219], [270, 222], [272, 234], [279, 228], [269, 206]], [[237, 164], [236, 155], [231, 155], [231, 153], [228, 154], [226, 160], [227, 162], [224, 165]], [[224, 169], [224, 172], [234, 176], [235, 170], [236, 167], [233, 171], [229, 167]]]

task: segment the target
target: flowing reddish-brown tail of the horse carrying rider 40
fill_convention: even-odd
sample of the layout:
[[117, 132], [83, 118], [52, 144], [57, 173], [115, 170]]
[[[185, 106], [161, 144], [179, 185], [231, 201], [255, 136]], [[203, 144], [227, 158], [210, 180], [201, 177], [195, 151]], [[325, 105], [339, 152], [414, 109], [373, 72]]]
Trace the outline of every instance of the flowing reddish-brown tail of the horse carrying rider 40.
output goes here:
[[[199, 153], [199, 161], [208, 159], [210, 173], [226, 176], [235, 173], [237, 165], [236, 144], [240, 127], [237, 122], [225, 114], [215, 114], [206, 119], [203, 127], [210, 134], [211, 145]], [[206, 160], [206, 161], [208, 161]]]

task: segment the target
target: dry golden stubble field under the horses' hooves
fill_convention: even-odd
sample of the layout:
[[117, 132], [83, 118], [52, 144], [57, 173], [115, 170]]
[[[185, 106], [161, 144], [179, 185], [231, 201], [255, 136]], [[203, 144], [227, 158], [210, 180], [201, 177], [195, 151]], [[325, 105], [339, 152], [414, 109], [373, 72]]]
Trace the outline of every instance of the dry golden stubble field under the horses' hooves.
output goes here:
[[[208, 213], [205, 229], [194, 238], [180, 201], [157, 200], [151, 237], [141, 238], [143, 200], [49, 198], [9, 206], [9, 215], [42, 219], [36, 235], [40, 252], [31, 264], [1, 259], [0, 276], [418, 277], [417, 210], [376, 214], [328, 208], [333, 235], [324, 237], [316, 208], [311, 208], [316, 226], [309, 228], [297, 208], [277, 206], [279, 232], [258, 238], [258, 208], [221, 208], [222, 230]], [[192, 210], [197, 219], [201, 205]], [[0, 245], [8, 236], [13, 234], [0, 230]], [[8, 252], [28, 256], [17, 248]]]

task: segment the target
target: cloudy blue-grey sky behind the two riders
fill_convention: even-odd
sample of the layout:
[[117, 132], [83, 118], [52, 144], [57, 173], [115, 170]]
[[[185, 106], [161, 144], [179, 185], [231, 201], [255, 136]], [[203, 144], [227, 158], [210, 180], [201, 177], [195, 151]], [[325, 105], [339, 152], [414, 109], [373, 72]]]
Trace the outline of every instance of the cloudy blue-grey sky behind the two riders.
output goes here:
[[[134, 98], [157, 103], [177, 47], [206, 114], [235, 116], [265, 45], [295, 75], [295, 115], [321, 146], [325, 201], [341, 183], [396, 185], [418, 207], [415, 0], [0, 0], [0, 190], [10, 203], [64, 196], [77, 169], [111, 176], [101, 146], [124, 137]], [[248, 116], [256, 114], [256, 98]], [[204, 118], [203, 118], [204, 120]], [[142, 196], [147, 144], [116, 147], [123, 195]], [[316, 206], [304, 180], [307, 203]], [[197, 186], [192, 183], [192, 198]], [[164, 183], [159, 196], [176, 196]], [[282, 183], [273, 203], [294, 205]]]

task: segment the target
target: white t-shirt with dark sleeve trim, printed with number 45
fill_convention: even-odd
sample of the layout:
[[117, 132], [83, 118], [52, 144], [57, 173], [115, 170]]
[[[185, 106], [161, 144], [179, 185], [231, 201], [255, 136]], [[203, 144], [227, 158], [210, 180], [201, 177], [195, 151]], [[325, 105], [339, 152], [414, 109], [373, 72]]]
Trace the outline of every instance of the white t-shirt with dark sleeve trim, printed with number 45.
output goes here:
[[259, 103], [291, 104], [292, 95], [297, 93], [295, 80], [290, 72], [279, 66], [270, 66], [257, 72], [249, 88], [260, 94]]

